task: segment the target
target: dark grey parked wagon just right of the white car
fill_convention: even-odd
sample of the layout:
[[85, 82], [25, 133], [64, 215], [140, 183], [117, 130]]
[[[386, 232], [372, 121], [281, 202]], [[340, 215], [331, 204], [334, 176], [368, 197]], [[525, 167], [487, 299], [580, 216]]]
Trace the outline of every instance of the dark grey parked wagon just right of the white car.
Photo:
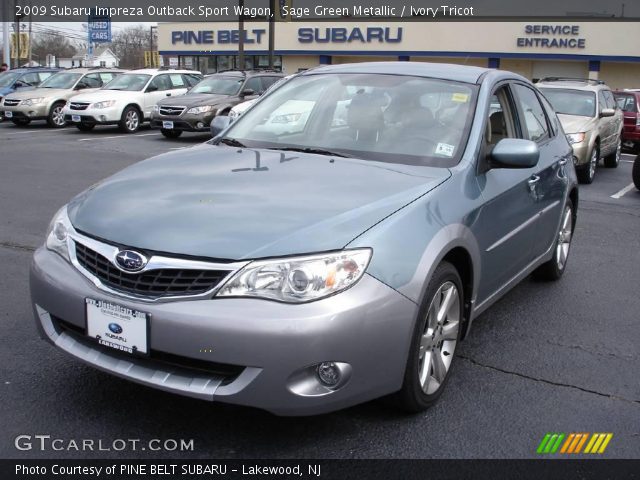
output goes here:
[[216, 115], [228, 115], [234, 105], [262, 95], [282, 74], [256, 71], [229, 71], [207, 76], [186, 95], [158, 102], [151, 128], [159, 128], [167, 138], [182, 132], [208, 132]]

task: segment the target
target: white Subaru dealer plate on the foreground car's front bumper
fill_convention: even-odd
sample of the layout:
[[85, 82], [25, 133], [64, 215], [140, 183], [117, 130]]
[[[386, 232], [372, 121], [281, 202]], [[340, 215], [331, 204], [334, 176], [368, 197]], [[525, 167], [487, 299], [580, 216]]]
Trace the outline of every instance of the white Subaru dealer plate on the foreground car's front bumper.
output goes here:
[[127, 353], [148, 354], [149, 316], [128, 307], [86, 299], [87, 335], [101, 345]]

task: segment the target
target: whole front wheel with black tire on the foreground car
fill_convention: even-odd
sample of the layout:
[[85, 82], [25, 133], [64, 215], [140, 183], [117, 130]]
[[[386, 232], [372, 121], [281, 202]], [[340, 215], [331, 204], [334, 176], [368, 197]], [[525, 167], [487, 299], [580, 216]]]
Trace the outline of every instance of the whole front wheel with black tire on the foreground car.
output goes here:
[[[429, 281], [418, 313], [402, 389], [392, 397], [396, 406], [412, 413], [421, 412], [442, 394], [460, 342], [463, 304], [460, 275], [453, 265], [442, 262]], [[438, 311], [444, 312], [440, 321], [440, 315], [435, 314]]]

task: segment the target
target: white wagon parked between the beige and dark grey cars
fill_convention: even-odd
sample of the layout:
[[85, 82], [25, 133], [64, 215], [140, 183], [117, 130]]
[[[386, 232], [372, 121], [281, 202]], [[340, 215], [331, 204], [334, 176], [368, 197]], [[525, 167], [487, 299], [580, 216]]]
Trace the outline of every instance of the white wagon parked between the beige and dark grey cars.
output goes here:
[[193, 70], [131, 70], [99, 90], [71, 97], [64, 118], [83, 131], [96, 125], [119, 125], [133, 133], [151, 117], [156, 103], [186, 93], [201, 79], [200, 72]]

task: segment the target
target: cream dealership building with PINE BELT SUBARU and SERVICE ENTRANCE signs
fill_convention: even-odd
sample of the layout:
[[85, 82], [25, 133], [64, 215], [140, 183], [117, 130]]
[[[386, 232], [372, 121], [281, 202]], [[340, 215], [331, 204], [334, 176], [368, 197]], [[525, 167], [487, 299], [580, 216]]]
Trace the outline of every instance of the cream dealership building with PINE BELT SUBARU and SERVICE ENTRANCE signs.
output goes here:
[[[269, 65], [268, 34], [267, 22], [245, 22], [245, 68]], [[161, 23], [158, 50], [166, 65], [214, 73], [239, 68], [239, 36], [237, 22]], [[285, 73], [322, 64], [419, 61], [640, 88], [637, 22], [276, 22], [274, 52]]]

